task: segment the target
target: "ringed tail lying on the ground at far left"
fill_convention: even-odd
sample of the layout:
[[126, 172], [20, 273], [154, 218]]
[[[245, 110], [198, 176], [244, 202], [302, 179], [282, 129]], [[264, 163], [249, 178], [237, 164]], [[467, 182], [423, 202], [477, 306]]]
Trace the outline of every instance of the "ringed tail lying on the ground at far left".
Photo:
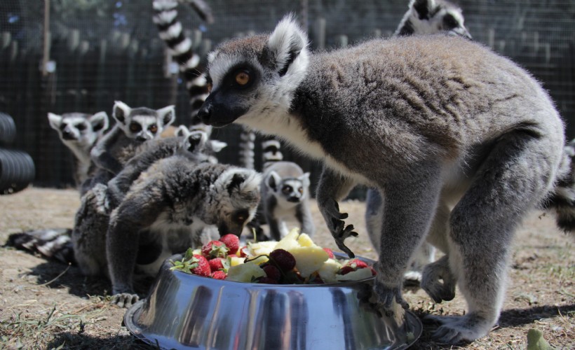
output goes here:
[[8, 236], [5, 246], [13, 246], [22, 251], [37, 253], [47, 259], [76, 265], [71, 235], [72, 230], [69, 228], [19, 232]]

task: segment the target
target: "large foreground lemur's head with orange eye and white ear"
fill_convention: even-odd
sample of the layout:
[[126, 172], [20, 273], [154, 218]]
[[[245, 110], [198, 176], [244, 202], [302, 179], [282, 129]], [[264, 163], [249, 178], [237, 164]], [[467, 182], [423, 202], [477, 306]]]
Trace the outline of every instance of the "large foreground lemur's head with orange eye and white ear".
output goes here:
[[286, 113], [306, 75], [307, 46], [306, 34], [291, 15], [270, 35], [223, 43], [208, 55], [212, 88], [198, 116], [205, 124], [222, 127], [241, 117], [257, 125], [257, 118]]

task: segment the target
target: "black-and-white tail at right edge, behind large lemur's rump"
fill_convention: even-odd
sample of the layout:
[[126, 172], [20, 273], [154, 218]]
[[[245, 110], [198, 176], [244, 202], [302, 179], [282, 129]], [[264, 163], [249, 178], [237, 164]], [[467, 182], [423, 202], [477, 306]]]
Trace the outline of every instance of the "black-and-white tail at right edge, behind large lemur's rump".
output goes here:
[[555, 212], [557, 226], [575, 235], [575, 139], [563, 148], [560, 181], [545, 203], [545, 209]]

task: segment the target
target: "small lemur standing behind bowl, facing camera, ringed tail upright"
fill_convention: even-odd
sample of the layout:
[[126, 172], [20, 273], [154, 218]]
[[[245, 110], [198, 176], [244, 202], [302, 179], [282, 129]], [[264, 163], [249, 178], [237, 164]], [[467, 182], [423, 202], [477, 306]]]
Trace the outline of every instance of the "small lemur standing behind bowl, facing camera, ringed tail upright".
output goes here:
[[262, 176], [262, 216], [269, 225], [272, 239], [279, 241], [288, 234], [285, 221], [295, 221], [300, 232], [313, 235], [309, 209], [309, 172], [295, 162], [285, 162], [276, 140], [264, 141], [264, 175]]

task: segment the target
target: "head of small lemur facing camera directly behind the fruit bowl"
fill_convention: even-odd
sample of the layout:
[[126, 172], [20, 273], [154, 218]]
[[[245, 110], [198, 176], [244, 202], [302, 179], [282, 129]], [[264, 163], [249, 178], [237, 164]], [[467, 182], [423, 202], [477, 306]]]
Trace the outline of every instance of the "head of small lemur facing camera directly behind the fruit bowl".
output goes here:
[[281, 207], [290, 207], [306, 199], [309, 188], [309, 173], [299, 177], [282, 179], [278, 173], [272, 170], [266, 176], [265, 183]]

